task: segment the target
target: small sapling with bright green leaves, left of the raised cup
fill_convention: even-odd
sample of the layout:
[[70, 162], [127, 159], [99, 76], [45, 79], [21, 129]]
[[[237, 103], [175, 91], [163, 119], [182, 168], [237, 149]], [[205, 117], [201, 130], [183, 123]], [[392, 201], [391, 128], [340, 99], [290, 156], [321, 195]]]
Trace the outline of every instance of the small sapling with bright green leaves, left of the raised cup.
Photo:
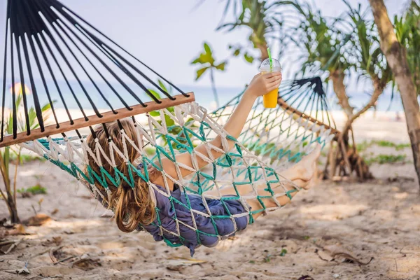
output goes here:
[[197, 58], [191, 62], [191, 64], [200, 64], [200, 69], [197, 70], [197, 76], [195, 80], [199, 80], [207, 70], [210, 71], [211, 88], [213, 90], [214, 99], [216, 100], [217, 107], [220, 106], [218, 100], [218, 94], [216, 90], [216, 84], [214, 83], [214, 71], [225, 71], [225, 66], [228, 64], [227, 61], [216, 63], [216, 59], [213, 56], [213, 52], [208, 43], [204, 43], [204, 51], [198, 55]]

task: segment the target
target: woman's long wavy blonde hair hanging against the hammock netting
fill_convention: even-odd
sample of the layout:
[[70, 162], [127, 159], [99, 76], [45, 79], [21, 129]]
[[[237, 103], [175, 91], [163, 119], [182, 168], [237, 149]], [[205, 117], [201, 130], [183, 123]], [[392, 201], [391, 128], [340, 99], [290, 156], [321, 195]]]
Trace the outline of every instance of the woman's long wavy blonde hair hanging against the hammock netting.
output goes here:
[[[95, 145], [100, 145], [104, 149], [106, 155], [109, 156], [109, 139], [111, 139], [111, 141], [116, 144], [120, 151], [124, 151], [121, 128], [123, 128], [125, 134], [127, 134], [127, 137], [132, 139], [132, 141], [134, 141], [134, 143], [139, 146], [137, 141], [136, 127], [134, 127], [133, 120], [130, 118], [125, 118], [120, 120], [119, 123], [120, 124], [118, 124], [117, 121], [113, 121], [111, 123], [105, 123], [104, 125], [106, 128], [104, 125], [98, 125], [97, 127], [94, 127], [94, 135], [90, 134], [87, 137], [87, 145], [92, 149], [92, 151], [95, 151]], [[96, 139], [98, 139], [97, 143], [94, 136]], [[127, 155], [130, 162], [134, 162], [137, 160], [137, 158], [139, 158], [139, 153], [131, 144], [127, 144]], [[99, 166], [89, 155], [89, 153], [87, 158], [93, 171], [97, 174], [101, 174]], [[114, 158], [118, 170], [123, 173], [126, 178], [130, 178], [126, 162], [123, 160], [123, 158], [120, 158], [120, 155], [118, 155], [115, 151]], [[115, 171], [113, 167], [111, 167], [109, 162], [105, 160], [103, 155], [101, 155], [101, 161], [106, 172], [109, 172], [111, 176], [115, 177]], [[108, 183], [112, 194], [109, 198], [109, 201], [106, 200], [106, 202], [109, 207], [113, 209], [118, 228], [123, 232], [132, 232], [138, 228], [139, 224], [149, 225], [155, 221], [156, 217], [155, 205], [149, 194], [149, 187], [147, 183], [139, 176], [137, 176], [137, 174], [133, 173], [133, 176], [134, 181], [136, 182], [134, 188], [132, 188], [124, 180], [121, 180], [120, 186], [116, 187], [113, 185], [113, 183], [111, 183], [111, 181], [109, 181], [108, 178], [106, 178], [106, 183]], [[153, 179], [157, 176], [158, 170], [149, 170], [149, 179], [151, 181], [153, 181]], [[102, 186], [102, 184], [96, 180], [94, 184], [102, 193], [106, 192], [104, 186]]]

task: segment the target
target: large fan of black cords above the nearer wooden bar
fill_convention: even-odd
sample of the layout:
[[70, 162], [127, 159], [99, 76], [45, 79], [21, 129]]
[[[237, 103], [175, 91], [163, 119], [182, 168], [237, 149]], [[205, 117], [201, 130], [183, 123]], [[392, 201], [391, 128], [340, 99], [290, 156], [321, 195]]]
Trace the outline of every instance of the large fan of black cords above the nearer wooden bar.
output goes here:
[[[92, 31], [83, 26], [83, 24], [90, 27]], [[93, 32], [96, 32], [97, 34], [95, 35]], [[71, 97], [73, 97], [74, 102], [76, 102], [83, 118], [85, 118], [86, 121], [88, 120], [84, 108], [86, 102], [80, 101], [80, 97], [76, 94], [76, 89], [73, 88], [74, 86], [71, 84], [70, 78], [74, 78], [76, 80], [76, 85], [80, 87], [81, 92], [83, 92], [87, 103], [93, 109], [94, 113], [99, 118], [102, 117], [102, 113], [99, 112], [97, 106], [95, 105], [97, 100], [94, 100], [88, 93], [85, 87], [85, 82], [83, 82], [80, 74], [78, 74], [80, 72], [85, 74], [87, 80], [98, 92], [100, 99], [105, 102], [113, 113], [117, 112], [113, 108], [109, 98], [106, 97], [106, 94], [104, 94], [99, 85], [95, 82], [92, 77], [93, 73], [96, 73], [101, 80], [104, 81], [107, 89], [111, 90], [115, 97], [128, 110], [131, 110], [130, 105], [125, 101], [123, 94], [118, 93], [118, 90], [116, 90], [116, 88], [111, 84], [109, 78], [106, 78], [106, 75], [111, 75], [115, 78], [118, 85], [121, 85], [130, 94], [130, 96], [142, 106], [146, 106], [146, 104], [144, 104], [139, 95], [136, 94], [129, 85], [127, 85], [122, 76], [125, 79], [128, 78], [131, 83], [134, 83], [134, 85], [139, 86], [150, 99], [158, 104], [160, 104], [161, 101], [160, 97], [157, 96], [155, 92], [160, 92], [163, 96], [174, 100], [172, 94], [169, 94], [169, 92], [155, 83], [146, 75], [146, 73], [144, 73], [144, 71], [137, 68], [137, 66], [126, 59], [120, 52], [134, 58], [135, 61], [146, 67], [146, 69], [151, 71], [151, 73], [155, 76], [165, 81], [174, 88], [174, 90], [183, 94], [185, 97], [188, 97], [188, 94], [179, 89], [179, 87], [176, 87], [176, 85], [167, 80], [167, 78], [161, 76], [158, 72], [151, 69], [151, 67], [144, 64], [144, 62], [135, 58], [130, 54], [130, 52], [127, 52], [127, 50], [123, 49], [109, 37], [102, 34], [102, 32], [98, 29], [92, 27], [92, 25], [80, 18], [79, 15], [59, 1], [8, 0], [5, 34], [0, 142], [3, 141], [4, 126], [6, 124], [5, 108], [7, 99], [6, 80], [8, 78], [8, 61], [10, 61], [10, 78], [12, 84], [12, 122], [14, 139], [18, 134], [18, 109], [16, 101], [17, 96], [20, 93], [16, 92], [16, 88], [14, 86], [17, 82], [16, 78], [20, 79], [20, 85], [22, 85], [21, 94], [24, 106], [23, 111], [27, 135], [31, 134], [28, 100], [29, 92], [27, 92], [25, 87], [27, 84], [30, 85], [31, 88], [36, 119], [38, 120], [41, 132], [44, 131], [45, 126], [39, 92], [43, 92], [43, 90], [45, 90], [48, 104], [50, 104], [52, 116], [54, 117], [57, 128], [60, 124], [51, 96], [52, 91], [56, 91], [59, 95], [59, 100], [61, 101], [71, 124], [73, 124], [73, 118], [68, 106], [68, 101]], [[104, 38], [101, 39], [99, 36]], [[106, 43], [105, 40], [109, 41], [109, 43]], [[30, 55], [33, 59], [31, 59]], [[80, 58], [84, 58], [84, 61], [81, 61]], [[62, 60], [64, 63], [60, 63], [59, 60]], [[16, 63], [18, 64], [18, 67], [16, 67]], [[36, 68], [34, 68], [32, 64], [35, 64]], [[89, 71], [85, 65], [91, 66], [92, 70]], [[67, 72], [69, 73], [66, 73], [64, 66], [67, 67]], [[81, 71], [78, 71], [76, 67], [78, 67]], [[112, 67], [114, 67], [114, 69]], [[19, 70], [18, 77], [15, 77], [16, 68]], [[55, 69], [58, 71], [55, 71]], [[43, 90], [40, 90], [41, 85], [38, 85], [35, 81], [34, 73], [36, 73], [36, 70], [38, 71], [39, 78], [41, 78]], [[25, 75], [25, 72], [27, 75]], [[137, 77], [135, 73], [139, 74], [141, 78]], [[47, 74], [50, 77], [49, 79]], [[64, 87], [59, 85], [59, 78], [64, 80], [66, 88], [71, 92], [71, 97], [64, 94]], [[26, 83], [27, 80], [29, 83]], [[49, 83], [50, 81], [52, 81], [53, 85]], [[146, 86], [145, 83], [148, 83], [149, 86]], [[149, 90], [150, 85], [153, 86], [155, 92], [151, 92], [151, 90]]]

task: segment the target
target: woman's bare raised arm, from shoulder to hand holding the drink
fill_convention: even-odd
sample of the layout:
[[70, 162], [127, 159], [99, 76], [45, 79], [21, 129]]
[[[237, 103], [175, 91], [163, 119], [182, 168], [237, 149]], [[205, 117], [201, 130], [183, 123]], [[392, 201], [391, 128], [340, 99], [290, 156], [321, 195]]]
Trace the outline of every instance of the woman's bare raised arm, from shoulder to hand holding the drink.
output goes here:
[[[237, 108], [235, 109], [235, 111], [233, 111], [232, 115], [228, 119], [228, 122], [223, 127], [224, 130], [228, 132], [230, 136], [237, 139], [241, 134], [242, 129], [244, 128], [246, 118], [248, 118], [248, 114], [251, 111], [253, 104], [255, 103], [255, 99], [257, 99], [263, 94], [266, 94], [267, 92], [278, 88], [280, 83], [281, 73], [279, 72], [256, 75], [246, 88]], [[213, 140], [209, 141], [209, 144], [221, 148], [223, 150], [222, 137], [220, 135], [218, 135]], [[234, 141], [228, 140], [228, 145], [229, 149], [232, 148], [234, 145]], [[202, 153], [203, 155], [209, 158], [216, 159], [223, 155], [223, 153], [215, 151], [214, 149], [212, 149], [210, 152], [211, 156], [209, 155], [205, 144], [197, 146], [194, 149], [194, 153]], [[202, 167], [205, 167], [209, 164], [209, 162], [206, 162], [205, 160], [202, 160], [202, 158], [190, 154], [188, 152], [176, 155], [176, 162], [179, 162], [188, 167], [193, 167], [193, 157], [195, 157], [197, 160], [198, 169], [201, 169]], [[176, 173], [176, 166], [174, 165], [174, 162], [167, 158], [162, 158], [161, 162], [162, 169], [165, 171], [165, 173], [174, 179], [178, 179], [178, 174]], [[158, 162], [156, 162], [156, 164], [159, 165]], [[180, 168], [180, 172], [183, 177], [192, 173], [190, 170], [183, 168]], [[162, 177], [159, 177], [153, 183], [157, 183], [163, 186], [163, 180], [164, 179]], [[173, 188], [172, 183], [169, 183], [169, 188]]]

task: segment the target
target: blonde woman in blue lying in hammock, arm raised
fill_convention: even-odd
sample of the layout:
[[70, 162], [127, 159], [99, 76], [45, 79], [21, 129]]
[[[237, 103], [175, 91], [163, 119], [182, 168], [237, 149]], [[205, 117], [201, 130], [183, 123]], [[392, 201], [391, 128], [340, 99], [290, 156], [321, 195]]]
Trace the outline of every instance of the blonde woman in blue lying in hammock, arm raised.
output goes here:
[[[255, 99], [265, 92], [270, 92], [278, 88], [280, 83], [281, 73], [258, 74], [255, 76], [244, 92], [237, 109], [225, 124], [224, 130], [237, 139], [246, 123], [246, 118], [253, 107]], [[136, 127], [134, 127], [133, 121], [131, 119], [120, 120], [120, 125], [123, 125], [125, 134], [137, 144]], [[106, 130], [113, 143], [116, 144], [120, 151], [124, 151], [125, 147], [122, 143], [118, 123], [107, 123]], [[109, 155], [109, 137], [104, 127], [99, 125], [95, 128], [94, 132], [96, 139], [90, 135], [87, 138], [88, 146], [90, 146], [92, 151], [95, 151], [94, 147], [98, 143], [102, 146], [105, 153]], [[230, 148], [233, 147], [234, 143], [234, 141], [228, 140]], [[210, 144], [222, 148], [221, 136], [217, 136], [211, 140]], [[139, 158], [139, 153], [131, 145], [126, 146], [130, 162], [135, 162]], [[197, 146], [195, 152], [202, 153], [203, 155], [209, 155], [211, 153], [212, 155], [209, 155], [209, 158], [214, 159], [223, 155], [219, 151], [209, 151], [204, 144]], [[264, 214], [264, 209], [283, 206], [290, 202], [291, 197], [297, 193], [295, 191], [297, 188], [309, 188], [309, 181], [314, 176], [316, 159], [319, 153], [320, 146], [318, 145], [315, 151], [307, 155], [296, 165], [279, 173], [283, 178], [288, 179], [285, 180], [288, 183], [282, 183], [281, 186], [280, 183], [277, 186], [271, 186], [274, 195], [277, 194], [276, 197], [265, 190], [267, 184], [261, 184], [257, 190], [254, 190], [253, 186], [248, 184], [237, 186], [237, 191], [232, 186], [204, 193], [206, 197], [204, 198], [205, 201], [203, 201], [202, 196], [187, 194], [176, 183], [169, 180], [169, 178], [179, 179], [179, 174], [176, 172], [176, 165], [168, 158], [161, 158], [160, 162], [155, 162], [155, 165], [161, 166], [163, 172], [158, 171], [158, 169], [152, 166], [146, 167], [148, 169], [149, 180], [155, 185], [155, 188], [149, 188], [148, 183], [143, 181], [139, 176], [134, 177], [134, 180], [137, 181], [137, 185], [134, 188], [130, 187], [123, 180], [121, 180], [118, 188], [115, 188], [111, 182], [108, 182], [112, 195], [111, 201], [106, 201], [106, 204], [114, 211], [118, 228], [123, 232], [146, 230], [153, 235], [156, 241], [165, 240], [172, 246], [181, 244], [188, 246], [191, 255], [193, 255], [195, 248], [200, 246], [200, 244], [209, 247], [215, 246], [220, 239], [235, 235], [235, 232], [238, 230], [244, 230], [248, 223], [252, 223], [255, 218]], [[99, 166], [93, 158], [90, 155], [88, 155], [88, 158], [89, 165], [94, 172], [101, 174]], [[117, 154], [115, 154], [115, 158], [117, 168], [127, 178], [130, 178], [125, 162]], [[196, 158], [198, 169], [208, 165], [208, 162], [202, 160], [200, 157]], [[192, 156], [188, 152], [176, 155], [176, 162], [193, 168]], [[106, 172], [114, 175], [114, 169], [106, 159], [102, 158], [102, 164]], [[144, 169], [142, 165], [139, 165], [138, 168]], [[180, 168], [180, 170], [183, 178], [192, 173], [190, 169]], [[142, 171], [144, 172], [144, 170]], [[95, 183], [95, 185], [102, 193], [105, 193], [102, 184]], [[181, 204], [172, 202], [167, 195], [162, 194], [167, 193], [165, 186], [169, 187], [170, 195], [181, 202]], [[151, 193], [152, 190], [153, 193]], [[257, 199], [256, 193], [267, 198]], [[221, 197], [230, 197], [232, 199], [222, 200]], [[237, 199], [233, 199], [235, 197]], [[247, 198], [244, 199], [244, 197]], [[191, 209], [186, 207], [186, 205], [190, 205]], [[158, 211], [155, 209], [158, 209]], [[199, 213], [207, 215], [201, 215]], [[235, 218], [232, 218], [232, 215]]]

